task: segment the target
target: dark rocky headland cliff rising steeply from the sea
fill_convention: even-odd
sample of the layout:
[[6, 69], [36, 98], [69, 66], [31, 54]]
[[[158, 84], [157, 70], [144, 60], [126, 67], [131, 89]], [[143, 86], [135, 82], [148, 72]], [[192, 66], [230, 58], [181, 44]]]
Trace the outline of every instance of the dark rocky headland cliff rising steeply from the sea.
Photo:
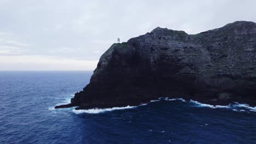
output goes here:
[[113, 44], [90, 83], [75, 93], [77, 109], [139, 105], [159, 97], [256, 105], [256, 23], [237, 21], [187, 34], [167, 28]]

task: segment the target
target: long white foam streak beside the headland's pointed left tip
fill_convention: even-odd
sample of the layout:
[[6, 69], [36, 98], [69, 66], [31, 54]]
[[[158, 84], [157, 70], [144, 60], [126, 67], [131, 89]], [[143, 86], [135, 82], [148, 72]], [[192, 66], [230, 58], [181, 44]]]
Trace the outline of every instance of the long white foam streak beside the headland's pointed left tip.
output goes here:
[[126, 106], [126, 107], [112, 107], [112, 108], [107, 108], [107, 109], [89, 109], [89, 110], [75, 110], [73, 109], [72, 111], [76, 114], [79, 113], [103, 113], [107, 111], [114, 111], [114, 110], [124, 110], [124, 109], [132, 109], [136, 106]]

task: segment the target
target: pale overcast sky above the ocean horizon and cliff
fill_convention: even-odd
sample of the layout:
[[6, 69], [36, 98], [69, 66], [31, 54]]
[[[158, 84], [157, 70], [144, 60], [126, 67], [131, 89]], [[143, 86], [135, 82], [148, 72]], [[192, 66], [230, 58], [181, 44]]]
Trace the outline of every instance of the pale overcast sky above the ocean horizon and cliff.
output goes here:
[[155, 27], [196, 34], [256, 21], [256, 1], [0, 0], [0, 70], [94, 70], [110, 45]]

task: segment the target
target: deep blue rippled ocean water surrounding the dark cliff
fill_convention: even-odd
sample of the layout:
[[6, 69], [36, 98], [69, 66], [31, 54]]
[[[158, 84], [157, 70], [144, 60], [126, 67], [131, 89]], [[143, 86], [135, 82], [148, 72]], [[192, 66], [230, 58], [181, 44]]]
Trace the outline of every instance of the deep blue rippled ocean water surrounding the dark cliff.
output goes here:
[[[0, 143], [256, 143], [256, 107], [167, 99], [54, 110], [92, 71], [1, 71]], [[118, 110], [119, 109], [119, 110]]]

